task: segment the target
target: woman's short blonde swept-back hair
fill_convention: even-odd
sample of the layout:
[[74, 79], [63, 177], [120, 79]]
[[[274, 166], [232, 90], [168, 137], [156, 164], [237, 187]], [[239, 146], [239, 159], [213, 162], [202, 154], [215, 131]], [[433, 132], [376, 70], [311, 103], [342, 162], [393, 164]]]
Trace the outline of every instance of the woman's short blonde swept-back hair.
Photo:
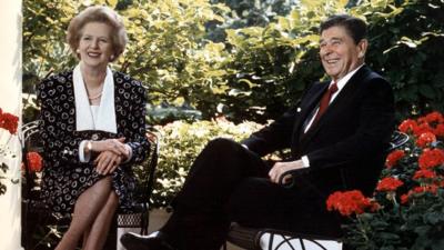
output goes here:
[[113, 57], [110, 61], [114, 61], [121, 53], [123, 53], [128, 42], [128, 37], [122, 18], [114, 10], [105, 6], [88, 7], [70, 21], [70, 24], [68, 26], [67, 41], [72, 52], [77, 58], [79, 58], [77, 49], [79, 48], [82, 29], [90, 22], [101, 22], [111, 27]]

